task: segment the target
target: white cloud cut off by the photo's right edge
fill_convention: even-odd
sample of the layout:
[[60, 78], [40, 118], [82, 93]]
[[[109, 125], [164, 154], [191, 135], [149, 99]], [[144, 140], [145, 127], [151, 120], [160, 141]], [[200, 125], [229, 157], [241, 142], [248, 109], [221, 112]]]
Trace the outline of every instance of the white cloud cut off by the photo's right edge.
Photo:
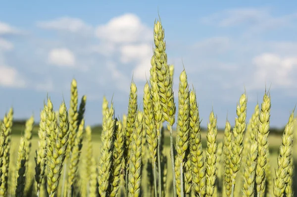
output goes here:
[[271, 88], [296, 86], [297, 57], [281, 57], [275, 53], [263, 53], [252, 59], [255, 65], [253, 83], [250, 88], [263, 89], [271, 83]]

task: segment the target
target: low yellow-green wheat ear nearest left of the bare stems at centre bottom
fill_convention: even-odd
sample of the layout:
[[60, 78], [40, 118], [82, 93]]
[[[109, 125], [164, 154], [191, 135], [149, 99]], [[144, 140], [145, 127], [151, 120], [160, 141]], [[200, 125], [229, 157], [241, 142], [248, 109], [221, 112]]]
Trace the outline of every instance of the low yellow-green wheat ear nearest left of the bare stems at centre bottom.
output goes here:
[[135, 120], [135, 129], [131, 135], [129, 157], [129, 183], [128, 197], [140, 196], [141, 185], [141, 149], [142, 149], [142, 132], [143, 132], [143, 112], [138, 111]]

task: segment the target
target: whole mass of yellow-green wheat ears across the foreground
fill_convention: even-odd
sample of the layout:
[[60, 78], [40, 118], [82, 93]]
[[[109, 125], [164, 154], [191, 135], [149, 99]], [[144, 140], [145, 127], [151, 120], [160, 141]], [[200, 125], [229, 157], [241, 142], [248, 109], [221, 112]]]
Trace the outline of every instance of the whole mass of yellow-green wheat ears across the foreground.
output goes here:
[[[109, 105], [104, 97], [101, 143], [96, 149], [100, 152], [98, 159], [93, 155], [91, 127], [85, 127], [87, 98], [83, 96], [78, 106], [75, 80], [71, 83], [68, 109], [62, 102], [58, 111], [54, 111], [49, 97], [44, 104], [40, 113], [35, 166], [28, 163], [34, 124], [31, 117], [20, 139], [16, 166], [9, 173], [12, 108], [5, 114], [0, 123], [0, 196], [25, 196], [30, 174], [35, 174], [31, 184], [35, 189], [29, 188], [27, 193], [34, 190], [36, 193], [31, 192], [31, 196], [37, 197], [294, 196], [294, 110], [282, 136], [274, 179], [268, 148], [271, 102], [266, 91], [248, 124], [246, 93], [240, 97], [235, 126], [231, 129], [226, 121], [221, 143], [217, 143], [217, 118], [211, 111], [207, 147], [203, 148], [196, 92], [194, 88], [189, 89], [183, 70], [179, 76], [176, 108], [172, 90], [174, 67], [167, 64], [164, 30], [159, 20], [154, 23], [153, 32], [155, 48], [149, 82], [144, 87], [143, 109], [138, 106], [134, 82], [130, 88], [128, 113], [122, 120], [115, 118], [113, 103]], [[173, 135], [175, 122], [177, 131]], [[170, 154], [164, 149], [165, 123], [170, 133]], [[86, 163], [80, 167], [83, 144]], [[171, 161], [172, 179], [167, 179], [170, 169], [167, 161]], [[34, 173], [28, 172], [34, 168]], [[79, 170], [83, 171], [83, 176], [79, 175]], [[239, 174], [242, 178], [236, 181]], [[172, 187], [167, 193], [169, 181]], [[235, 193], [235, 185], [240, 185], [239, 193]], [[143, 192], [144, 187], [149, 188], [147, 194]]]

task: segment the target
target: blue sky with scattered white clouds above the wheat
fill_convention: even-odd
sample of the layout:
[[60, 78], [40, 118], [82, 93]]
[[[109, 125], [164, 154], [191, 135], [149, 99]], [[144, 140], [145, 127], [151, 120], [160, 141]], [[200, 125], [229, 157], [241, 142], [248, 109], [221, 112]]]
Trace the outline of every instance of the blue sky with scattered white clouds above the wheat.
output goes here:
[[174, 91], [185, 66], [197, 91], [202, 126], [213, 107], [218, 126], [234, 125], [236, 104], [248, 96], [247, 120], [265, 86], [271, 126], [282, 127], [297, 103], [297, 3], [294, 1], [3, 1], [0, 12], [0, 113], [39, 112], [49, 94], [55, 109], [70, 83], [87, 95], [86, 123], [102, 120], [105, 95], [127, 112], [132, 75], [142, 108], [158, 11]]

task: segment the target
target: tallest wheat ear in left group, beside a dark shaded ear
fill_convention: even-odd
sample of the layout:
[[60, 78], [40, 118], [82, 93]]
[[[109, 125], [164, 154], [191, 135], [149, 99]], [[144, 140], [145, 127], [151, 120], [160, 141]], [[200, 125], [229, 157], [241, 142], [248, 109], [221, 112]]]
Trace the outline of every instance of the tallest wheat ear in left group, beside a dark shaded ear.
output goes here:
[[70, 152], [72, 149], [72, 145], [74, 143], [76, 131], [78, 128], [77, 119], [78, 119], [78, 92], [77, 92], [77, 81], [72, 79], [71, 86], [70, 86], [70, 107], [69, 107], [69, 144], [67, 147], [67, 159], [70, 156]]

